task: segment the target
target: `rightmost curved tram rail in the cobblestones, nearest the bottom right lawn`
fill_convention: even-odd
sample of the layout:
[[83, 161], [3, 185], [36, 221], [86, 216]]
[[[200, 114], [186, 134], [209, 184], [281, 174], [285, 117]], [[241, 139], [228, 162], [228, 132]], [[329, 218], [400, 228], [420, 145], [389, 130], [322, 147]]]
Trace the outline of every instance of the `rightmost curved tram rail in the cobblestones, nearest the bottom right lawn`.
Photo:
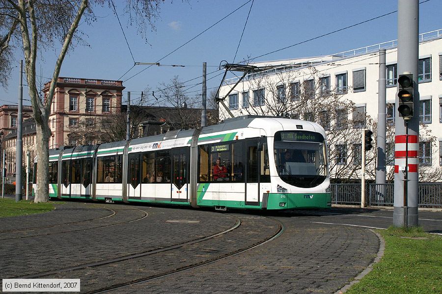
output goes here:
[[126, 288], [128, 286], [146, 283], [146, 282], [149, 282], [149, 281], [152, 281], [152, 280], [156, 280], [156, 279], [164, 278], [164, 277], [176, 274], [176, 273], [180, 273], [180, 272], [183, 272], [183, 271], [186, 271], [186, 270], [192, 270], [192, 269], [200, 268], [200, 267], [203, 267], [203, 266], [207, 266], [207, 265], [213, 264], [215, 262], [221, 261], [223, 259], [239, 255], [241, 253], [244, 253], [244, 252], [249, 251], [251, 249], [254, 249], [256, 247], [265, 245], [265, 244], [275, 240], [279, 236], [281, 236], [282, 233], [285, 231], [285, 226], [284, 226], [284, 224], [282, 222], [277, 221], [276, 219], [273, 219], [273, 218], [269, 218], [269, 217], [266, 217], [266, 218], [271, 219], [273, 221], [276, 221], [276, 223], [278, 224], [278, 229], [276, 230], [276, 232], [272, 236], [269, 236], [268, 238], [266, 238], [266, 239], [264, 239], [264, 240], [262, 240], [262, 241], [260, 241], [258, 243], [255, 243], [253, 245], [249, 245], [246, 248], [238, 249], [238, 250], [236, 250], [234, 252], [230, 252], [230, 253], [227, 253], [227, 254], [225, 254], [223, 256], [216, 257], [216, 258], [213, 258], [213, 259], [210, 259], [210, 260], [207, 260], [207, 261], [199, 262], [199, 263], [196, 263], [196, 264], [193, 264], [193, 265], [188, 265], [188, 266], [185, 266], [185, 267], [181, 267], [181, 268], [178, 268], [178, 269], [175, 269], [175, 270], [170, 270], [170, 271], [167, 271], [167, 272], [164, 272], [164, 273], [161, 273], [161, 274], [157, 274], [157, 275], [153, 275], [153, 276], [149, 276], [149, 277], [145, 277], [145, 278], [139, 278], [139, 279], [132, 280], [132, 281], [129, 281], [129, 282], [119, 283], [119, 284], [116, 284], [116, 285], [112, 285], [110, 287], [106, 287], [106, 288], [102, 288], [102, 289], [86, 292], [86, 294], [97, 294], [97, 293], [107, 293], [109, 291], [118, 291], [118, 290], [120, 290], [122, 288]]

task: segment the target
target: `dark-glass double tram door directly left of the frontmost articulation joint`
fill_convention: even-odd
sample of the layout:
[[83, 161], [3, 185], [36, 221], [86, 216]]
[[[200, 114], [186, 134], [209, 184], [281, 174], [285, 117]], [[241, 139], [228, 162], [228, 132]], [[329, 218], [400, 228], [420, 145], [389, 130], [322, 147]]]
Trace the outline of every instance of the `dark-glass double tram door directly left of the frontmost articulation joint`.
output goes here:
[[173, 149], [172, 155], [172, 201], [188, 201], [189, 150]]

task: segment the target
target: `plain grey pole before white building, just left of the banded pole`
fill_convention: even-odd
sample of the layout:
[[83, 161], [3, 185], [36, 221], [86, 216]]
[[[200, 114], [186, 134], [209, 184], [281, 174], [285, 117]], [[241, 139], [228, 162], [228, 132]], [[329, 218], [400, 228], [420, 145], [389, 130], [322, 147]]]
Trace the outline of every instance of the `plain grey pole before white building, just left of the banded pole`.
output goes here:
[[[387, 136], [387, 114], [386, 114], [386, 67], [385, 67], [385, 49], [379, 50], [379, 91], [378, 91], [378, 131], [376, 145], [378, 149], [378, 166], [376, 168], [376, 184], [385, 184], [386, 177], [386, 136]], [[376, 186], [378, 187], [378, 186]], [[376, 189], [377, 190], [377, 189]]]

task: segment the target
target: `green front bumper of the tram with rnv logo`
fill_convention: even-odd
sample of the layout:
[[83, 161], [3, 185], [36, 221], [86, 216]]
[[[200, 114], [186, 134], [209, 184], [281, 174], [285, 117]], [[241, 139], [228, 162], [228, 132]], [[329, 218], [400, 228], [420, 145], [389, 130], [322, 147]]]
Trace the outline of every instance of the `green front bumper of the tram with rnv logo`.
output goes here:
[[330, 208], [330, 193], [269, 193], [267, 209]]

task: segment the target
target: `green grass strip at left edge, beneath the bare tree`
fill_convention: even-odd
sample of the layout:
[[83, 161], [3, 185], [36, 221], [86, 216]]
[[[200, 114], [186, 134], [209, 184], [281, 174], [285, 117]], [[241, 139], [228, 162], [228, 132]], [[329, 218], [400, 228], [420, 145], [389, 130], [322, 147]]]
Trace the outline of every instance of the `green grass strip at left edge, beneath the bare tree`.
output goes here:
[[15, 202], [13, 199], [0, 198], [0, 218], [27, 216], [54, 209], [52, 203], [33, 203], [30, 200]]

